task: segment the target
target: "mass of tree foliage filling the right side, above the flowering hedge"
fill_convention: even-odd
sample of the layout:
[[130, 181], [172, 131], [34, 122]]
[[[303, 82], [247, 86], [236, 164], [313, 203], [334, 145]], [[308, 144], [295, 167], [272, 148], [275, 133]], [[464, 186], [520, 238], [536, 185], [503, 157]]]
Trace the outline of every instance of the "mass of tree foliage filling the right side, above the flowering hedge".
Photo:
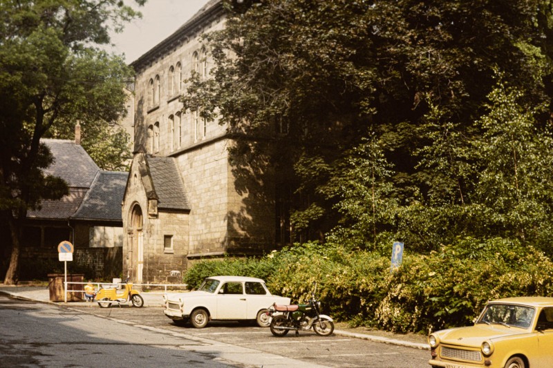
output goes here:
[[236, 167], [263, 155], [287, 178], [297, 234], [547, 248], [552, 1], [227, 6], [207, 37], [213, 78], [191, 75], [182, 101], [242, 135]]

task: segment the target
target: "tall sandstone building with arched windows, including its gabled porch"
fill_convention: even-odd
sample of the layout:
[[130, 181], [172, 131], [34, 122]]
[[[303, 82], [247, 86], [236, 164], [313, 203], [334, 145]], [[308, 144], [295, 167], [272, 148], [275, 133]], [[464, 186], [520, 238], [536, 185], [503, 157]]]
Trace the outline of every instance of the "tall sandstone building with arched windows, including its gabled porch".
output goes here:
[[201, 35], [224, 26], [221, 0], [209, 1], [131, 64], [135, 152], [122, 216], [123, 275], [134, 282], [179, 282], [194, 260], [274, 248], [274, 187], [239, 175], [227, 128], [182, 111], [178, 99], [192, 71], [209, 77]]

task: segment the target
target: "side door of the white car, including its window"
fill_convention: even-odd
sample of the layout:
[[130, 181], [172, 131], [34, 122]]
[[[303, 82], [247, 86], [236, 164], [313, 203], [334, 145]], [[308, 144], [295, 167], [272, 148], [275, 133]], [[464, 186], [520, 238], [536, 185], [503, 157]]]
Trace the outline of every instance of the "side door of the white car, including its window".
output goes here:
[[245, 320], [246, 319], [246, 298], [242, 282], [227, 281], [221, 285], [216, 296], [217, 320]]

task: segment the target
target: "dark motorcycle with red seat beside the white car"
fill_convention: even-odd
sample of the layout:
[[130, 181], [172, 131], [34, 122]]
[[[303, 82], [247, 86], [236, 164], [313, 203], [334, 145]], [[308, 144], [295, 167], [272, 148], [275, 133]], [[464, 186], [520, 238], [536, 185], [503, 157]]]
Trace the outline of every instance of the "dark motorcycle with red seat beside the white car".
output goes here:
[[[317, 285], [314, 285], [317, 289]], [[334, 321], [329, 316], [321, 314], [321, 302], [315, 298], [315, 290], [311, 292], [311, 299], [306, 304], [279, 305], [272, 304], [266, 312], [272, 318], [271, 333], [283, 337], [288, 331], [308, 331], [313, 329], [319, 336], [330, 336], [334, 332]]]

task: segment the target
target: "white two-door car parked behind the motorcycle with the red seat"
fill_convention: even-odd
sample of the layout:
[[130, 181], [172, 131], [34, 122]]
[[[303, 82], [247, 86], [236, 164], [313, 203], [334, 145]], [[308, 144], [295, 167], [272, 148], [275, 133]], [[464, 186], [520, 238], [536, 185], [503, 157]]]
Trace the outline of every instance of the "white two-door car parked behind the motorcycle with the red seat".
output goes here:
[[263, 280], [243, 276], [209, 277], [198, 290], [170, 293], [163, 301], [165, 316], [176, 323], [190, 320], [198, 329], [209, 320], [255, 320], [260, 327], [268, 327], [268, 307], [290, 304], [290, 298], [272, 295]]

